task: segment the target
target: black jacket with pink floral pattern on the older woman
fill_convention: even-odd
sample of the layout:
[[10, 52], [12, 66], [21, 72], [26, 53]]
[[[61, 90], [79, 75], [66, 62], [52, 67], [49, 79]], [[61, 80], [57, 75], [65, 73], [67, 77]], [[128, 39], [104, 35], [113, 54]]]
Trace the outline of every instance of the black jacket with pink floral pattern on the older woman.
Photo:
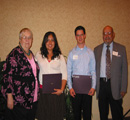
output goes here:
[[[39, 67], [37, 63], [36, 69], [38, 80]], [[34, 99], [35, 77], [27, 57], [19, 46], [7, 56], [3, 70], [2, 94], [5, 99], [7, 99], [7, 93], [12, 93], [14, 106], [31, 109]]]

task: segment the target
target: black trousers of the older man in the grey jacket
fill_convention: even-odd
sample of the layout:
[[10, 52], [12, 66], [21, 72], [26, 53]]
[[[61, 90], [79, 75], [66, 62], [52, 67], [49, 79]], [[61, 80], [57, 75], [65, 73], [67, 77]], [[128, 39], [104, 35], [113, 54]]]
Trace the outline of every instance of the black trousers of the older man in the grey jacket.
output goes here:
[[112, 120], [123, 120], [122, 99], [113, 99], [110, 82], [111, 80], [105, 82], [103, 79], [100, 79], [98, 99], [100, 120], [108, 120], [109, 105], [111, 107]]

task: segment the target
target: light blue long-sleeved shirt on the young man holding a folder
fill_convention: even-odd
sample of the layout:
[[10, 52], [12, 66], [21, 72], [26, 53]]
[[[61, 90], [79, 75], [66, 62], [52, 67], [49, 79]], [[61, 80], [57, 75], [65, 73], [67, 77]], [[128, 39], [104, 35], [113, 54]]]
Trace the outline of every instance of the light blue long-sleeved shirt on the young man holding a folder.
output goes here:
[[93, 51], [84, 46], [76, 46], [70, 51], [67, 60], [68, 87], [72, 88], [72, 75], [90, 75], [92, 76], [92, 88], [96, 88], [95, 57]]

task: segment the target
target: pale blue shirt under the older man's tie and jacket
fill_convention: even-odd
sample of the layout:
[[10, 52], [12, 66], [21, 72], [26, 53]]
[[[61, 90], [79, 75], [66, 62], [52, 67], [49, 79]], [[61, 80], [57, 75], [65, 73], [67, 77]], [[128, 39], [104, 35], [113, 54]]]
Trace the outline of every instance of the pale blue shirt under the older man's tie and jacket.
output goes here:
[[[110, 57], [112, 60], [113, 42], [110, 44], [109, 49], [110, 49]], [[107, 50], [107, 44], [104, 43], [101, 56], [100, 77], [106, 77], [106, 50]]]

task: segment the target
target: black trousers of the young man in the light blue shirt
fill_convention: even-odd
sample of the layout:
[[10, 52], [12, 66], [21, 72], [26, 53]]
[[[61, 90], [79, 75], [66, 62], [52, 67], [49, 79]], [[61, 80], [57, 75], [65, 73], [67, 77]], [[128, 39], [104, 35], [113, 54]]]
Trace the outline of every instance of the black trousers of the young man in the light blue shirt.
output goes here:
[[72, 97], [72, 107], [74, 120], [81, 120], [81, 110], [83, 110], [83, 120], [91, 120], [92, 96], [85, 94], [76, 94]]

